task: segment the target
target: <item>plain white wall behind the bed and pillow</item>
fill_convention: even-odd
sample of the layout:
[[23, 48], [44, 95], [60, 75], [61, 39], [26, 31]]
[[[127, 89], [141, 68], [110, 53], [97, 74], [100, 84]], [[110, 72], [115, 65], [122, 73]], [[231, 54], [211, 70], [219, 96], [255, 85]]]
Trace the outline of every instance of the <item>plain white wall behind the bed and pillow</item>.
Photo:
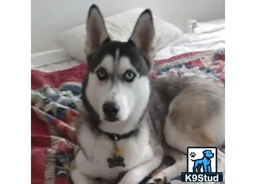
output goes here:
[[97, 4], [104, 16], [133, 7], [151, 8], [155, 15], [177, 25], [189, 18], [208, 21], [225, 15], [224, 0], [33, 0], [31, 52], [58, 48], [54, 39], [62, 31], [85, 23], [92, 4]]

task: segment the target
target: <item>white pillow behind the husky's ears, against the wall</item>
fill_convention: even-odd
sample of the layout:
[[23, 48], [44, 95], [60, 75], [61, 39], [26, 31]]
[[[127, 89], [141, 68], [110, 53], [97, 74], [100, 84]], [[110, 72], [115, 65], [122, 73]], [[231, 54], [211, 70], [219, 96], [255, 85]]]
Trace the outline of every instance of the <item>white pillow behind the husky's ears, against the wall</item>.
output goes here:
[[[135, 23], [139, 15], [145, 8], [134, 8], [118, 14], [105, 17], [105, 24], [110, 34], [111, 39], [119, 41], [127, 41], [132, 34]], [[161, 18], [154, 17], [155, 24], [155, 44], [157, 51], [163, 49], [171, 42], [179, 39], [182, 36], [182, 30], [167, 23]], [[70, 30], [61, 33], [56, 40], [57, 45], [64, 49], [69, 55], [78, 59], [79, 61], [86, 61], [86, 54], [84, 51], [86, 38], [86, 24], [71, 28]]]

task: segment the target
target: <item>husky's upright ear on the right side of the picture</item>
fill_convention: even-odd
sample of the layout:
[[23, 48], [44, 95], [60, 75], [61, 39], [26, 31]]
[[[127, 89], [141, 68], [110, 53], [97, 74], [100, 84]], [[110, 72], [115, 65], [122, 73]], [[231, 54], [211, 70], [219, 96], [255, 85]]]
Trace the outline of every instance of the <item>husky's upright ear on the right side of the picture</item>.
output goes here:
[[150, 60], [155, 56], [155, 27], [152, 12], [146, 9], [139, 16], [130, 40], [141, 50]]

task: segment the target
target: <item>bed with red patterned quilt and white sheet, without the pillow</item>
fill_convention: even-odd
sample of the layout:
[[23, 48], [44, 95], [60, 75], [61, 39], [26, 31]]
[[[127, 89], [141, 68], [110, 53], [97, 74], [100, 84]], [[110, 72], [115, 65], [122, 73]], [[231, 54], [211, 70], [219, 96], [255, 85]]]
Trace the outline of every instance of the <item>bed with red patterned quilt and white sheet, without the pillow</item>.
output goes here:
[[[151, 74], [200, 75], [225, 84], [224, 20], [200, 23], [157, 52]], [[32, 54], [32, 183], [71, 184], [69, 163], [77, 147], [74, 119], [80, 108], [81, 81], [87, 64], [64, 49]], [[155, 173], [170, 163], [168, 158]], [[171, 183], [179, 183], [179, 178]]]

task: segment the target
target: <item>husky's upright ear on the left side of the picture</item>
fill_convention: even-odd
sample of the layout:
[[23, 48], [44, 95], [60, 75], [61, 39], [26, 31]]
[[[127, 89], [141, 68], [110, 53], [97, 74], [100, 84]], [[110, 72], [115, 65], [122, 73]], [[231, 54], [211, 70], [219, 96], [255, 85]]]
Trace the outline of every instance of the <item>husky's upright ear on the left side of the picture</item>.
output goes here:
[[110, 40], [110, 36], [105, 26], [104, 18], [99, 8], [96, 5], [92, 5], [89, 9], [86, 25], [86, 55], [88, 56], [95, 52], [107, 40]]

